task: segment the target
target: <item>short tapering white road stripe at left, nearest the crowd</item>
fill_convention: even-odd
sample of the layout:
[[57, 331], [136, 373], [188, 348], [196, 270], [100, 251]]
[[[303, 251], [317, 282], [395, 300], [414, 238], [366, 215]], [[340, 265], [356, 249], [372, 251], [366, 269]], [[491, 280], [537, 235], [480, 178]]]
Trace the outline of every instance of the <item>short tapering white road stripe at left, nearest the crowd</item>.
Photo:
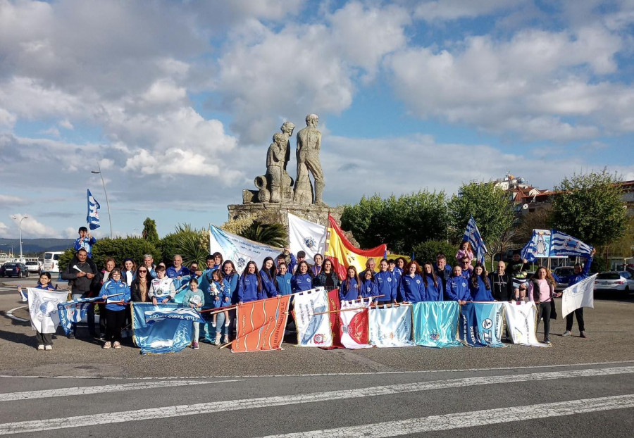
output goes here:
[[84, 396], [88, 394], [104, 394], [106, 392], [135, 391], [138, 389], [154, 389], [166, 387], [185, 387], [193, 384], [214, 384], [240, 382], [241, 380], [220, 380], [218, 382], [201, 382], [199, 380], [161, 380], [159, 382], [139, 382], [124, 384], [108, 384], [99, 387], [73, 387], [58, 389], [42, 389], [40, 391], [0, 393], [0, 401], [27, 399], [46, 399], [49, 397]]

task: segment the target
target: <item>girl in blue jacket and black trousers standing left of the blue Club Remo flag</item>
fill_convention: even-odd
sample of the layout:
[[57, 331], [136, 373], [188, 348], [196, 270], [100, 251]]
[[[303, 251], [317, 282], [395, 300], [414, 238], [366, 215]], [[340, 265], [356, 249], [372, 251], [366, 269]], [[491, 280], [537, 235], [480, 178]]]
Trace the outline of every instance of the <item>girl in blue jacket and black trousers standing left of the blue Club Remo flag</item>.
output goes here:
[[[120, 295], [116, 295], [120, 294]], [[121, 280], [121, 270], [114, 268], [110, 272], [110, 280], [101, 287], [99, 296], [112, 296], [106, 299], [106, 342], [104, 349], [121, 348], [121, 329], [125, 322], [125, 305], [130, 302], [130, 287]]]

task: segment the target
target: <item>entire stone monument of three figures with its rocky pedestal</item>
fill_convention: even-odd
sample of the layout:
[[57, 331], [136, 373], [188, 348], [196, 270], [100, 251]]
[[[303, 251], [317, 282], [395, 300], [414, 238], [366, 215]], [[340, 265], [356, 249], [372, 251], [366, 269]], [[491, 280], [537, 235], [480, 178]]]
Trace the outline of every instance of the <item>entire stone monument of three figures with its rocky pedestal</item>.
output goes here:
[[285, 122], [280, 128], [281, 132], [273, 134], [273, 143], [268, 146], [266, 153], [266, 173], [254, 180], [258, 190], [243, 190], [242, 204], [228, 206], [229, 220], [256, 215], [261, 222], [288, 226], [287, 213], [322, 225], [328, 223], [328, 214], [339, 220], [343, 208], [330, 208], [323, 201], [325, 182], [319, 161], [321, 132], [317, 130], [318, 120], [316, 114], [306, 115], [306, 127], [297, 132], [296, 181], [287, 172], [290, 139], [295, 125]]

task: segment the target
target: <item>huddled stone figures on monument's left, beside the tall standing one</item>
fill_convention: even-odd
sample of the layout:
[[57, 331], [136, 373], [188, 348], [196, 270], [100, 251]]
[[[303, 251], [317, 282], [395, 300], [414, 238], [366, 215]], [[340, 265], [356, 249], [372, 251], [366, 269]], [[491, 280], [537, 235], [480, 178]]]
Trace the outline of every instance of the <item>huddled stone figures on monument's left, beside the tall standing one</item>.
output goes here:
[[295, 125], [285, 122], [280, 128], [282, 132], [273, 134], [273, 143], [266, 153], [266, 175], [255, 178], [259, 190], [257, 199], [260, 202], [292, 201], [293, 179], [286, 171], [290, 158], [289, 137]]

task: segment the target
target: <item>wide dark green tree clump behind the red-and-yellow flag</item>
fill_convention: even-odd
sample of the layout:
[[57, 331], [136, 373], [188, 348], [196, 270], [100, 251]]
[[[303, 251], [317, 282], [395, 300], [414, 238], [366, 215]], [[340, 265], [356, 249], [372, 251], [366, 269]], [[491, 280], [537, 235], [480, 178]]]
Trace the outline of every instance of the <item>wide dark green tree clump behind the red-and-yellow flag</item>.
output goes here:
[[345, 206], [341, 225], [352, 231], [362, 248], [380, 244], [394, 252], [410, 253], [416, 244], [446, 239], [449, 213], [445, 192], [363, 196], [359, 204]]

